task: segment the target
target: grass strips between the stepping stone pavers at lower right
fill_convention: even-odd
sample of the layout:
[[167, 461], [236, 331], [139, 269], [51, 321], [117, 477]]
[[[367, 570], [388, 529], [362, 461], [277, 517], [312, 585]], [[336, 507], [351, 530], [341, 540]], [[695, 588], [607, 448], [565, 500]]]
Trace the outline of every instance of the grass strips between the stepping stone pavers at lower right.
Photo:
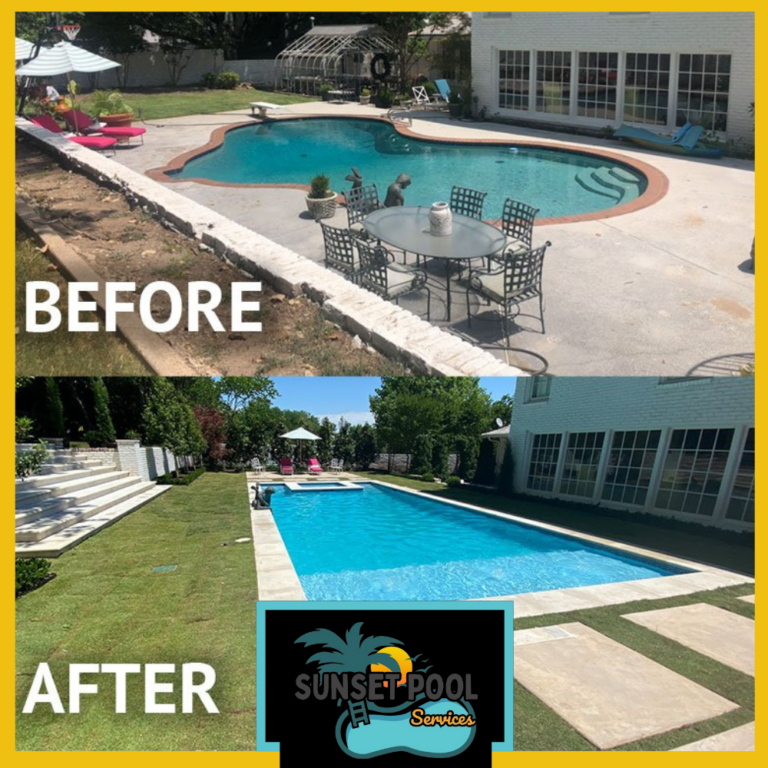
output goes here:
[[[740, 595], [754, 594], [754, 591], [754, 585], [745, 584], [667, 600], [643, 600], [606, 608], [516, 619], [515, 631], [578, 621], [739, 705], [739, 709], [720, 717], [619, 748], [622, 751], [666, 751], [752, 722], [755, 719], [755, 681], [743, 672], [622, 617], [638, 611], [710, 603], [754, 619], [755, 606], [736, 599]], [[522, 686], [516, 685], [515, 749], [581, 750], [594, 747], [539, 699]]]

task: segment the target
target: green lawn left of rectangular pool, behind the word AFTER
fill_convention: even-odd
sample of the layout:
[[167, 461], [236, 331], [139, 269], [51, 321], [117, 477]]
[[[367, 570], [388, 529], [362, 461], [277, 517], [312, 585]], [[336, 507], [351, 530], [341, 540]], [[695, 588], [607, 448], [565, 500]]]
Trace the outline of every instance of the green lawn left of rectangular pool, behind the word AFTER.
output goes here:
[[[57, 577], [16, 603], [19, 750], [250, 750], [256, 738], [256, 572], [243, 475], [207, 474], [53, 561]], [[229, 546], [222, 546], [223, 544]], [[176, 565], [153, 573], [158, 565]], [[21, 714], [38, 664], [66, 701], [68, 666], [202, 662], [214, 667], [221, 714], [143, 714], [143, 675], [128, 676], [128, 714], [114, 713], [111, 675], [79, 715], [47, 705]], [[180, 674], [171, 679], [179, 685]], [[160, 702], [180, 695], [161, 694]]]

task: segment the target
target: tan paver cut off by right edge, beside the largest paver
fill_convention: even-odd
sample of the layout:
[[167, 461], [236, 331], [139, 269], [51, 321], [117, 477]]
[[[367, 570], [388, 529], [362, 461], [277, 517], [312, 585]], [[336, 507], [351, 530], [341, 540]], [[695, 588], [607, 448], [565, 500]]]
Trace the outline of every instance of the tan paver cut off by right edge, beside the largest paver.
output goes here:
[[706, 603], [629, 613], [625, 619], [755, 676], [755, 622]]

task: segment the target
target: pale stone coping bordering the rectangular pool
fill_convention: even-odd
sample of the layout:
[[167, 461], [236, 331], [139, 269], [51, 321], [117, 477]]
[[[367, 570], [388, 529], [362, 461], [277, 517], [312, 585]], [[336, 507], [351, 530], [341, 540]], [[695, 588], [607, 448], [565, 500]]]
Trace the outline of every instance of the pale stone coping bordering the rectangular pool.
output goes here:
[[[348, 475], [353, 477], [353, 475]], [[248, 501], [251, 510], [251, 529], [253, 531], [254, 554], [256, 557], [256, 580], [259, 600], [306, 600], [304, 590], [301, 587], [299, 576], [293, 566], [291, 556], [285, 546], [280, 531], [275, 523], [271, 510], [254, 510], [250, 504], [253, 502], [254, 491], [251, 486], [259, 479], [259, 475], [249, 473]], [[281, 481], [269, 482], [277, 484]], [[380, 485], [402, 493], [410, 493], [420, 498], [425, 494], [410, 488], [385, 483], [381, 480], [369, 480], [367, 478], [356, 479], [361, 484]], [[429, 498], [429, 497], [427, 497]], [[478, 600], [514, 600], [515, 618], [531, 616], [544, 616], [550, 613], [566, 613], [585, 608], [600, 608], [606, 605], [619, 605], [636, 600], [662, 600], [668, 597], [680, 597], [695, 592], [704, 592], [722, 587], [731, 587], [736, 584], [754, 584], [754, 579], [743, 574], [726, 571], [722, 568], [684, 560], [678, 557], [655, 552], [650, 549], [634, 547], [629, 544], [610, 541], [598, 536], [590, 536], [584, 533], [541, 523], [526, 518], [508, 515], [503, 512], [485, 509], [472, 504], [464, 504], [460, 501], [439, 499], [443, 504], [460, 507], [471, 512], [490, 515], [502, 520], [508, 520], [521, 525], [549, 531], [563, 536], [568, 536], [579, 541], [596, 544], [601, 547], [623, 552], [627, 555], [649, 558], [657, 562], [687, 568], [694, 573], [678, 574], [674, 576], [659, 576], [652, 579], [639, 579], [636, 581], [621, 581], [612, 584], [596, 584], [588, 587], [571, 587], [568, 589], [547, 590], [544, 592], [527, 592], [517, 595], [503, 595], [500, 597], [476, 598]]]

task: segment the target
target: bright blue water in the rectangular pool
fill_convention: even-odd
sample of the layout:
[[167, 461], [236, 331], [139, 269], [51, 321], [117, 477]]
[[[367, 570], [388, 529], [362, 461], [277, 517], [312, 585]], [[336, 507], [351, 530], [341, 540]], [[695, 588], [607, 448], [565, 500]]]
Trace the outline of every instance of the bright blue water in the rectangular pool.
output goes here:
[[466, 600], [685, 573], [381, 486], [275, 489], [275, 521], [309, 600]]

